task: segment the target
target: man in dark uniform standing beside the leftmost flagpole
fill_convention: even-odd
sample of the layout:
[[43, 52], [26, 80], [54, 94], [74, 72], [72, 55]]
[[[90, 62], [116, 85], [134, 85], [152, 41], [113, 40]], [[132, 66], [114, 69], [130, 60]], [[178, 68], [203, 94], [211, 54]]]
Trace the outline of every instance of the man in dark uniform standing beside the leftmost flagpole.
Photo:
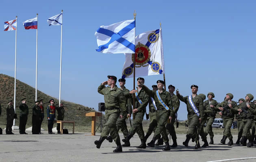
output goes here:
[[14, 135], [14, 133], [12, 133], [12, 128], [11, 128], [13, 126], [13, 120], [15, 116], [13, 100], [9, 101], [6, 107], [6, 115], [7, 115], [7, 124], [6, 124], [5, 132], [7, 135]]

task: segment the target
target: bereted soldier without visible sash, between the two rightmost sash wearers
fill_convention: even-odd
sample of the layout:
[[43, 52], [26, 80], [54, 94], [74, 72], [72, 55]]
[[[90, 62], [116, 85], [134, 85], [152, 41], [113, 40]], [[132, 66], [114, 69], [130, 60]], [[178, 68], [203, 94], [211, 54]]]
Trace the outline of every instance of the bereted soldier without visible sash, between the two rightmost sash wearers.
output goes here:
[[[167, 135], [169, 135], [169, 133], [171, 134], [171, 139], [173, 141], [173, 144], [171, 145], [171, 147], [177, 147], [178, 146], [177, 140], [176, 140], [177, 136], [176, 136], [176, 132], [175, 132], [175, 128], [174, 128], [174, 122], [175, 122], [175, 119], [177, 120], [177, 112], [180, 107], [180, 100], [178, 99], [178, 97], [176, 95], [174, 95], [175, 86], [169, 85], [168, 89], [169, 89], [169, 93], [171, 95], [171, 101], [172, 101], [172, 105], [173, 105], [172, 109], [174, 110], [174, 115], [172, 116], [171, 123], [167, 122], [167, 124], [166, 124], [166, 133], [167, 133]], [[176, 122], [178, 122], [178, 121], [176, 121]]]

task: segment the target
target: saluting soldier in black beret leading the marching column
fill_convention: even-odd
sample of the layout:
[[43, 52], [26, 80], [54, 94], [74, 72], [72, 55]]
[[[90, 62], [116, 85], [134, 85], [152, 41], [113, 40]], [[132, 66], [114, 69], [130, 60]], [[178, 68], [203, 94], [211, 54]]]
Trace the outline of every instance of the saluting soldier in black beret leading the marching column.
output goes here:
[[[117, 77], [108, 76], [108, 80], [102, 82], [98, 87], [98, 93], [104, 95], [105, 101], [105, 117], [106, 124], [100, 134], [100, 139], [94, 141], [94, 144], [99, 149], [102, 142], [107, 139], [112, 142], [113, 139], [117, 145], [117, 148], [113, 152], [122, 152], [122, 146], [120, 142], [120, 137], [117, 132], [116, 122], [118, 118], [126, 118], [126, 97], [120, 88], [115, 85], [117, 82]], [[105, 87], [105, 85], [108, 87]], [[108, 136], [110, 133], [110, 136]]]

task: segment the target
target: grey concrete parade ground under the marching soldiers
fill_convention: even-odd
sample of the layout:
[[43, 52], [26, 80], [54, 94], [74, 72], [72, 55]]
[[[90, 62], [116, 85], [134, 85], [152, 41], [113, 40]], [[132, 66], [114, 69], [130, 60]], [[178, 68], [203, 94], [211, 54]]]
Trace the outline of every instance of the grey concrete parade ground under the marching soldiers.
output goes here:
[[99, 136], [90, 136], [91, 133], [48, 135], [43, 131], [43, 135], [32, 135], [27, 131], [28, 135], [20, 135], [18, 130], [13, 133], [15, 135], [0, 135], [0, 162], [208, 162], [234, 158], [242, 159], [227, 161], [256, 161], [256, 147], [220, 145], [221, 135], [214, 137], [214, 145], [197, 150], [193, 149], [195, 143], [191, 141], [189, 147], [184, 147], [185, 135], [177, 135], [178, 147], [162, 151], [163, 146], [137, 149], [140, 140], [135, 134], [130, 140], [131, 147], [123, 147], [122, 153], [113, 153], [114, 142], [105, 140], [97, 149], [94, 141]]

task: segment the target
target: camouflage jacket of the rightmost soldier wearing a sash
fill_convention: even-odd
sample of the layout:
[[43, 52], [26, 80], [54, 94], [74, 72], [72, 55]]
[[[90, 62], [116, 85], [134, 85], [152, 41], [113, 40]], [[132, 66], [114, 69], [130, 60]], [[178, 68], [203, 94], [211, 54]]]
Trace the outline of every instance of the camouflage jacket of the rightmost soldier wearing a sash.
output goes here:
[[[189, 103], [189, 96], [183, 97], [182, 95], [178, 94], [177, 97], [178, 99], [180, 99], [180, 101], [186, 103], [188, 113], [195, 113]], [[204, 114], [203, 99], [200, 96], [196, 95], [194, 98], [192, 97], [192, 101], [195, 104], [195, 107], [197, 108], [197, 110], [200, 112], [200, 118], [204, 120], [205, 114]]]

